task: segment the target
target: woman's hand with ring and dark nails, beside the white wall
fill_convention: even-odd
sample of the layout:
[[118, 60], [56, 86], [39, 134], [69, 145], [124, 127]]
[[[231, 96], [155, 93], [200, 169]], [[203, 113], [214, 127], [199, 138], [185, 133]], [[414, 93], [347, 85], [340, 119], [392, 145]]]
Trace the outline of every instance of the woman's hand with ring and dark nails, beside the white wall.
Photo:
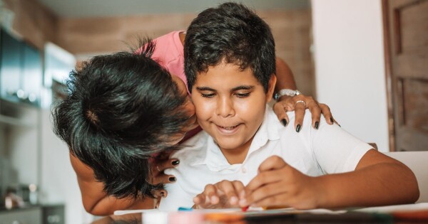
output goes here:
[[[303, 103], [305, 102], [305, 103]], [[300, 132], [303, 123], [303, 117], [305, 117], [305, 110], [310, 110], [312, 114], [312, 127], [318, 129], [320, 125], [321, 114], [324, 115], [327, 124], [333, 124], [335, 120], [332, 117], [332, 112], [330, 108], [322, 103], [318, 103], [312, 97], [307, 97], [305, 95], [296, 95], [294, 97], [282, 96], [278, 102], [273, 105], [273, 111], [277, 114], [280, 122], [286, 126], [290, 119], [288, 119], [287, 111], [295, 111], [295, 124], [294, 128], [296, 132]]]

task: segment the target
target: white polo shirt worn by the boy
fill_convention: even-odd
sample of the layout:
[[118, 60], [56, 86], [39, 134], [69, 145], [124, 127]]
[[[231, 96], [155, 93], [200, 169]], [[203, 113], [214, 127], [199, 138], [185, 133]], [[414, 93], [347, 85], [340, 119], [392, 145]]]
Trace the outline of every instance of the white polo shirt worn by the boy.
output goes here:
[[243, 164], [230, 165], [206, 132], [189, 139], [183, 149], [171, 156], [180, 159], [180, 165], [165, 170], [165, 174], [174, 175], [177, 181], [165, 185], [168, 196], [162, 199], [159, 209], [193, 206], [193, 197], [202, 193], [209, 183], [238, 180], [246, 185], [257, 175], [258, 166], [272, 155], [280, 156], [303, 174], [320, 176], [354, 171], [362, 156], [372, 149], [337, 124], [327, 124], [324, 117], [321, 117], [319, 129], [312, 128], [309, 110], [297, 133], [293, 125], [295, 113], [287, 114], [290, 124], [284, 127], [267, 106], [265, 119]]

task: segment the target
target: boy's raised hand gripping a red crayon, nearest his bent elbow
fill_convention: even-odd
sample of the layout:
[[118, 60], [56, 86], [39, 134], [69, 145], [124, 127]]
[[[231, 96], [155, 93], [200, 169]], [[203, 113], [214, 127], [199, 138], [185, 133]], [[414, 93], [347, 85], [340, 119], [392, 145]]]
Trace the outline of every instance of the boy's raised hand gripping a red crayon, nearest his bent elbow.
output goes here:
[[245, 187], [240, 206], [284, 206], [316, 208], [322, 195], [315, 178], [300, 173], [279, 156], [270, 156], [259, 166], [259, 174]]

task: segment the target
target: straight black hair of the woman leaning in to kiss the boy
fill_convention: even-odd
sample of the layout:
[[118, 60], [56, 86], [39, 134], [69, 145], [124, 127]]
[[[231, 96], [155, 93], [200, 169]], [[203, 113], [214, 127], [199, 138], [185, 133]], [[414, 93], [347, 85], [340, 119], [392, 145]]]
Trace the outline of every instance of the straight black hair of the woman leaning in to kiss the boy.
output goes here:
[[146, 39], [138, 53], [99, 55], [71, 71], [68, 96], [54, 107], [54, 132], [106, 193], [123, 198], [151, 196], [153, 154], [175, 149], [170, 136], [183, 133], [187, 95], [151, 58]]

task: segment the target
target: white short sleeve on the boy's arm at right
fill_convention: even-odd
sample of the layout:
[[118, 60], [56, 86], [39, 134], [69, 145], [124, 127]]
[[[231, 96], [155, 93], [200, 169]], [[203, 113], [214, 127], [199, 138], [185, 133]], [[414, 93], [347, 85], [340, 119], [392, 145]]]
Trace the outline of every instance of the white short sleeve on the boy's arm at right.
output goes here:
[[320, 128], [311, 130], [311, 148], [324, 174], [354, 171], [362, 156], [373, 147], [321, 117]]

